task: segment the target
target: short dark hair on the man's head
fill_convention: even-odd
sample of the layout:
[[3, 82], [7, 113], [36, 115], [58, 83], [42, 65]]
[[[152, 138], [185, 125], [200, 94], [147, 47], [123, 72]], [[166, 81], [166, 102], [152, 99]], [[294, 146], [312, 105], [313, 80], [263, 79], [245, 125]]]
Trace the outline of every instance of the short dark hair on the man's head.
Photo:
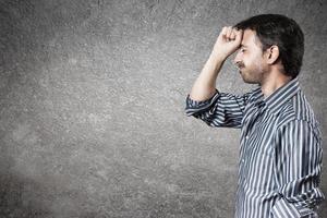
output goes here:
[[284, 74], [296, 77], [300, 73], [304, 53], [304, 36], [298, 23], [281, 14], [259, 14], [233, 26], [237, 29], [255, 31], [265, 51], [278, 46]]

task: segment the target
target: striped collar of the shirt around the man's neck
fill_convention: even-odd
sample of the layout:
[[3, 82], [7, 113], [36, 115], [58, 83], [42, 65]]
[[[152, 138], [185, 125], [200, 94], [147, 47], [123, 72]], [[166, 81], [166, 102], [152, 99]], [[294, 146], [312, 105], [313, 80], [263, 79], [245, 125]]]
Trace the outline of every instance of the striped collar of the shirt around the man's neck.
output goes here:
[[279, 112], [281, 106], [287, 102], [291, 97], [293, 97], [300, 90], [298, 76], [281, 87], [277, 88], [272, 94], [270, 94], [266, 99], [264, 99], [264, 94], [262, 87], [258, 86], [254, 90], [254, 101], [258, 106], [267, 106], [267, 108], [275, 114]]

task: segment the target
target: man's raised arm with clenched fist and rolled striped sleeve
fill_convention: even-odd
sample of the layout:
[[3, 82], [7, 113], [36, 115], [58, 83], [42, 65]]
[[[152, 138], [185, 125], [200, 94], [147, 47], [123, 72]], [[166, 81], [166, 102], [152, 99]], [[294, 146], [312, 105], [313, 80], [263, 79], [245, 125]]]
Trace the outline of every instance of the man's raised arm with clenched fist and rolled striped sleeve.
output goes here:
[[216, 78], [225, 60], [241, 45], [242, 31], [223, 27], [209, 59], [186, 97], [186, 114], [210, 126], [241, 128], [243, 110], [251, 93], [237, 96], [216, 89]]

